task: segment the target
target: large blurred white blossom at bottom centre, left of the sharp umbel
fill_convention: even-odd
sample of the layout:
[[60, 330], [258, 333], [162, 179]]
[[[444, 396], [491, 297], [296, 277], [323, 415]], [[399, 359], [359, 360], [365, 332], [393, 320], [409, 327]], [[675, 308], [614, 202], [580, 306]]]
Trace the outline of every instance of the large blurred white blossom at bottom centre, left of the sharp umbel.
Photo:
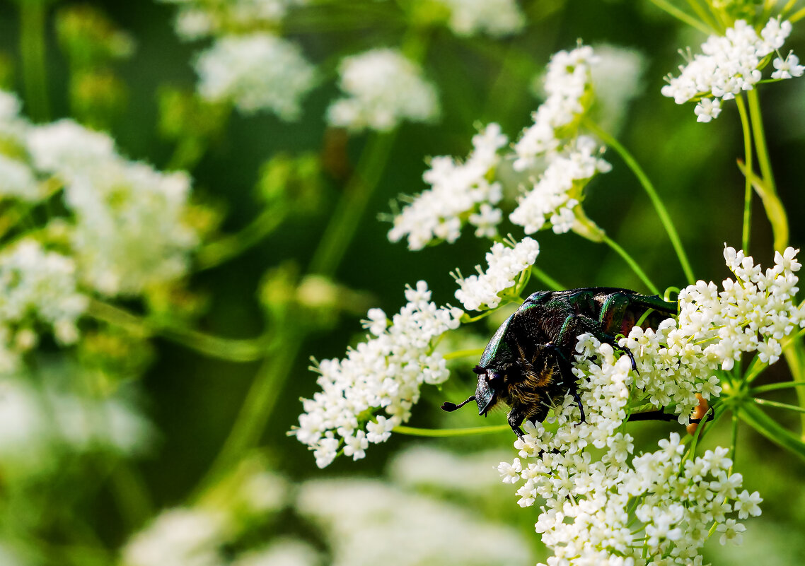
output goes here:
[[324, 530], [332, 566], [533, 563], [528, 544], [513, 529], [381, 482], [306, 482], [297, 508]]

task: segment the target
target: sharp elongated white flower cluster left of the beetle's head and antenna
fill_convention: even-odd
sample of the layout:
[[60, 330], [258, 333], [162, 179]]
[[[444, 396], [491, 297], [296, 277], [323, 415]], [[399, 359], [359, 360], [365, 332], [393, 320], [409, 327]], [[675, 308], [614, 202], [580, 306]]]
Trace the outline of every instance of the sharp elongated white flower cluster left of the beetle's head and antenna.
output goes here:
[[[407, 287], [405, 297], [407, 305], [390, 325], [382, 310], [369, 310], [365, 326], [374, 337], [350, 349], [345, 359], [319, 363], [322, 390], [303, 400], [299, 428], [291, 431], [314, 451], [316, 466], [328, 466], [342, 445], [346, 456], [365, 457], [369, 442], [385, 442], [395, 426], [411, 417], [423, 383], [448, 378], [434, 341], [456, 329], [463, 312], [437, 307], [425, 281]], [[380, 409], [386, 414], [365, 422]]]

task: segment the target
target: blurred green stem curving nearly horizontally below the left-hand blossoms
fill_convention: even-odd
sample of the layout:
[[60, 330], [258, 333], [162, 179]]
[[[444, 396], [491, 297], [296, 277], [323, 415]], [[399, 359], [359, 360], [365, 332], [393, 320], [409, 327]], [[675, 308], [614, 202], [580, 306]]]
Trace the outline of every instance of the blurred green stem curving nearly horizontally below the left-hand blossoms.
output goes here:
[[253, 362], [265, 358], [270, 351], [270, 338], [267, 334], [251, 339], [220, 338], [180, 326], [155, 324], [145, 317], [94, 298], [89, 299], [86, 314], [132, 334], [143, 337], [161, 336], [200, 354], [230, 362]]

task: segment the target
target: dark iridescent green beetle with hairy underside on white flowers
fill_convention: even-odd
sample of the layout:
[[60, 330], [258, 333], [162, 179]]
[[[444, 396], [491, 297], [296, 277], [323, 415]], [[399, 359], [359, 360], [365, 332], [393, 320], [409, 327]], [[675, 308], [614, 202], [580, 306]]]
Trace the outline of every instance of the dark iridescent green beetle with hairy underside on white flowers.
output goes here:
[[[629, 334], [637, 322], [643, 328], [656, 328], [675, 314], [676, 303], [629, 289], [590, 287], [533, 293], [489, 340], [473, 370], [478, 375], [475, 395], [458, 405], [444, 403], [442, 408], [455, 411], [474, 400], [478, 414], [485, 416], [502, 402], [511, 409], [511, 429], [522, 437], [523, 420], [542, 422], [549, 408], [569, 393], [584, 421], [570, 362], [579, 335], [588, 332], [617, 349], [617, 334]], [[636, 369], [631, 352], [624, 353]], [[661, 411], [652, 414], [663, 418]]]

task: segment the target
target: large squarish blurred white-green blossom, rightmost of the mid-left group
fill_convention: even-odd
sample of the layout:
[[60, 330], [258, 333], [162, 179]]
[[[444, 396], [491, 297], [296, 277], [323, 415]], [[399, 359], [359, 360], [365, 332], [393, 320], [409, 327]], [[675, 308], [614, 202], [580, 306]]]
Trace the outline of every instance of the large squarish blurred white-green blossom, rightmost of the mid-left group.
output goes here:
[[184, 214], [190, 179], [143, 163], [97, 163], [65, 187], [81, 277], [101, 293], [136, 294], [184, 275], [198, 244]]

